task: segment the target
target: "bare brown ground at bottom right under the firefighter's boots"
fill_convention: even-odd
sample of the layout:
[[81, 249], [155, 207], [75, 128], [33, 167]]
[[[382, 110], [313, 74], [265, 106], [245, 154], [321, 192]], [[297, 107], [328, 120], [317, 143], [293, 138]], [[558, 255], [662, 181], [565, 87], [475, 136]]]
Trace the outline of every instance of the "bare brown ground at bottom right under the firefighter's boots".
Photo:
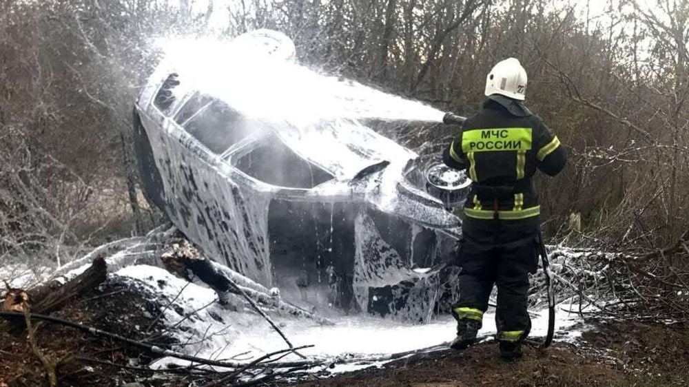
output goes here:
[[638, 322], [599, 322], [573, 346], [526, 348], [504, 362], [497, 344], [464, 353], [401, 360], [300, 386], [688, 386], [689, 328]]

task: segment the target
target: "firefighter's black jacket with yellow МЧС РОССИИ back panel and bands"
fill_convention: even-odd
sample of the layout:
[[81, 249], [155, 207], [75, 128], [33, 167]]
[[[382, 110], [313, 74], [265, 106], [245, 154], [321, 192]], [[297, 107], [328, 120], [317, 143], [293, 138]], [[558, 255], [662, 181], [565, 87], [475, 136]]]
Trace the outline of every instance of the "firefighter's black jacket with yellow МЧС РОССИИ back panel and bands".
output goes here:
[[562, 171], [565, 151], [557, 136], [519, 101], [493, 95], [464, 121], [444, 151], [449, 167], [466, 169], [473, 181], [464, 214], [477, 220], [519, 221], [540, 213], [531, 178]]

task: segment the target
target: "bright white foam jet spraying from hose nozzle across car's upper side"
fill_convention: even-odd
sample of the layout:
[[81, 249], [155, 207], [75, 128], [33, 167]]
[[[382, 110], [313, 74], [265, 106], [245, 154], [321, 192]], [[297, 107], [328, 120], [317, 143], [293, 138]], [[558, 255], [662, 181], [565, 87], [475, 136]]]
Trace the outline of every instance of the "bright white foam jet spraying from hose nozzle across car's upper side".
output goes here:
[[158, 44], [178, 74], [253, 118], [296, 125], [336, 118], [442, 122], [443, 112], [429, 105], [298, 65], [294, 43], [281, 32]]

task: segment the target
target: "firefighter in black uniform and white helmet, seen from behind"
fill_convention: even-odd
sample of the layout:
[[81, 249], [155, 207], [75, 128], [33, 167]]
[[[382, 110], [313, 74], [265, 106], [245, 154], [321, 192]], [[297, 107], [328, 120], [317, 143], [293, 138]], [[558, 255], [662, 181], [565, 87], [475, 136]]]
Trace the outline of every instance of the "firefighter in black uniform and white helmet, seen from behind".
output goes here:
[[[526, 312], [528, 273], [537, 269], [538, 196], [531, 178], [536, 170], [549, 176], [562, 171], [565, 151], [539, 116], [522, 103], [526, 71], [515, 58], [497, 63], [486, 77], [483, 108], [466, 119], [444, 151], [449, 167], [466, 169], [472, 185], [457, 251], [460, 300], [453, 306], [457, 337], [451, 348], [476, 342], [497, 284], [497, 339], [505, 359], [521, 357], [521, 344], [531, 329]], [[452, 123], [452, 114], [444, 121]]]

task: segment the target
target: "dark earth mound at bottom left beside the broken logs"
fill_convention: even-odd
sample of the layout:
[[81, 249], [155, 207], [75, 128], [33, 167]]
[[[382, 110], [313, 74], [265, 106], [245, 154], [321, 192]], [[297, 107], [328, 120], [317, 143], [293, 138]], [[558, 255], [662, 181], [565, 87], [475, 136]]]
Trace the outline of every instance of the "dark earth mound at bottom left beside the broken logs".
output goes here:
[[[171, 339], [159, 335], [162, 325], [156, 317], [167, 303], [154, 290], [109, 276], [99, 289], [52, 316], [130, 339], [154, 337], [152, 341], [164, 347]], [[148, 331], [154, 322], [154, 328]], [[65, 326], [33, 324], [41, 354], [59, 362], [56, 371], [60, 386], [118, 386], [140, 379], [152, 380], [146, 386], [163, 385], [152, 379], [152, 371], [136, 369], [152, 361], [152, 357], [137, 349]], [[0, 387], [8, 386], [48, 386], [48, 379], [45, 367], [31, 350], [26, 331], [15, 331], [0, 320]]]

